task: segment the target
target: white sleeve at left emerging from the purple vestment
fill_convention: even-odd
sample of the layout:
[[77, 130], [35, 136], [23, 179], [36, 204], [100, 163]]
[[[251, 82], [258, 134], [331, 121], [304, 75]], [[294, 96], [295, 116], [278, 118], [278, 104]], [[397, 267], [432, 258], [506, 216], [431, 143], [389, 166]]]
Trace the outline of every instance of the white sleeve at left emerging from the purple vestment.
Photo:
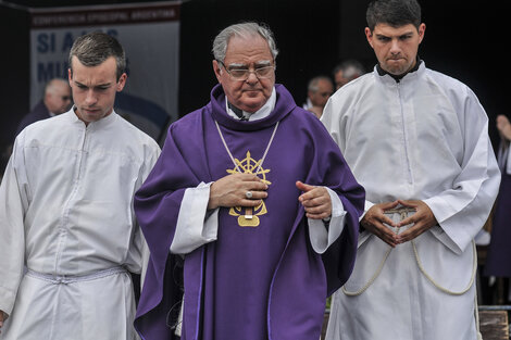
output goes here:
[[210, 184], [201, 182], [185, 190], [177, 216], [176, 232], [171, 244], [173, 254], [188, 254], [215, 241], [219, 229], [219, 209], [208, 212]]

